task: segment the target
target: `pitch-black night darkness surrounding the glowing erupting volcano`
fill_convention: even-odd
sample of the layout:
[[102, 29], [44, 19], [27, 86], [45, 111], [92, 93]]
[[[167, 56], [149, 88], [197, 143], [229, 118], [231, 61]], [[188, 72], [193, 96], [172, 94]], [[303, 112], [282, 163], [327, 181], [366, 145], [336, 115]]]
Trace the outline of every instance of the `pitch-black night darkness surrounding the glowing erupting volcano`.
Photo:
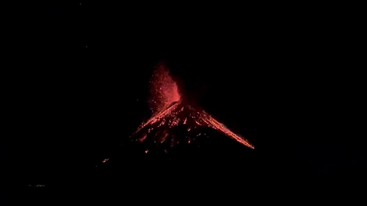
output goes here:
[[[279, 185], [297, 193], [363, 184], [362, 11], [288, 7], [3, 4], [1, 179], [12, 200], [105, 189], [117, 199], [233, 195], [228, 188], [246, 199]], [[213, 138], [167, 161], [128, 148], [119, 155], [129, 161], [95, 168], [150, 117], [160, 61], [189, 102], [255, 149]]]

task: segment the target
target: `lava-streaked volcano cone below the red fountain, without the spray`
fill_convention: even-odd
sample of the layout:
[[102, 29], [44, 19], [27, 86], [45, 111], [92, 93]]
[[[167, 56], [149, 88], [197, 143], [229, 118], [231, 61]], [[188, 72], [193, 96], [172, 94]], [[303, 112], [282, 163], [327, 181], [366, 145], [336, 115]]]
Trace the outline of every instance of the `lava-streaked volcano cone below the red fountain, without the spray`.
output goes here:
[[141, 125], [130, 138], [141, 143], [174, 147], [175, 144], [190, 144], [200, 136], [206, 136], [207, 129], [214, 129], [239, 143], [254, 148], [246, 139], [230, 131], [226, 126], [199, 108], [184, 101], [172, 102], [169, 106]]

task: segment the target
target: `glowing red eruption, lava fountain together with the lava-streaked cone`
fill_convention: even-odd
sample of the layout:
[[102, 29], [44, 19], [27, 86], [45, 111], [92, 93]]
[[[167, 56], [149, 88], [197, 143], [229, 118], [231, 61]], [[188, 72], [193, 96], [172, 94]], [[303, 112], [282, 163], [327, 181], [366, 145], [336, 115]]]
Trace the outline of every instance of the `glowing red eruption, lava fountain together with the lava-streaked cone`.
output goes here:
[[149, 104], [153, 117], [143, 123], [131, 138], [139, 142], [167, 143], [173, 147], [180, 142], [190, 144], [199, 136], [205, 136], [206, 129], [211, 128], [254, 148], [246, 139], [230, 131], [204, 110], [185, 103], [179, 95], [176, 82], [164, 66], [156, 68], [150, 83], [152, 97]]

